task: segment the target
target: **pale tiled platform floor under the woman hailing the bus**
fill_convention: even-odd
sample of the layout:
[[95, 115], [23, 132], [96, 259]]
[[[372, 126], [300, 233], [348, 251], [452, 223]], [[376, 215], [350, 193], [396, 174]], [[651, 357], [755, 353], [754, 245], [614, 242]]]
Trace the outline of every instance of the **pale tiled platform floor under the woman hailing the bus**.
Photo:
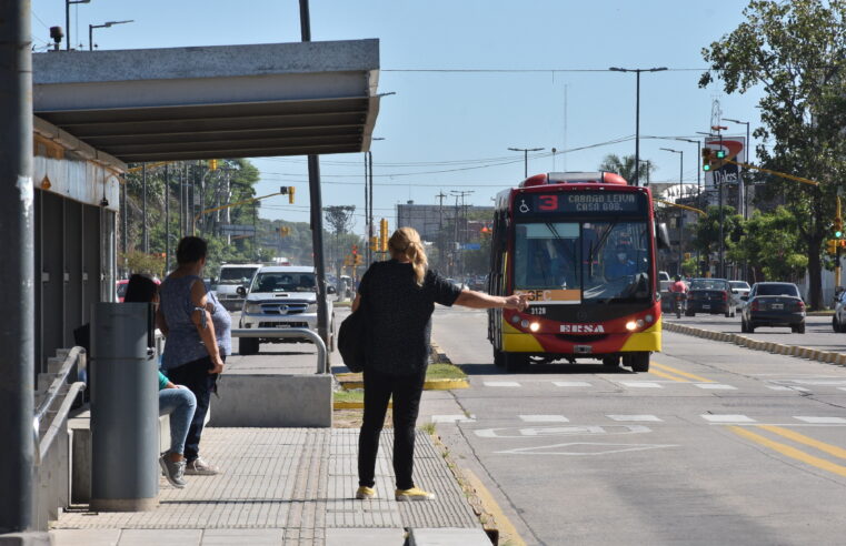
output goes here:
[[[207, 428], [203, 456], [218, 476], [187, 476], [183, 489], [161, 477], [151, 512], [62, 514], [51, 537], [58, 546], [100, 545], [400, 545], [405, 529], [475, 530], [490, 544], [452, 473], [429, 436], [418, 432], [417, 484], [432, 502], [394, 501], [392, 434], [382, 432], [376, 501], [354, 498], [358, 481], [354, 428]], [[418, 543], [419, 544], [419, 543]], [[439, 544], [445, 544], [440, 542]], [[446, 543], [449, 544], [449, 543]]]

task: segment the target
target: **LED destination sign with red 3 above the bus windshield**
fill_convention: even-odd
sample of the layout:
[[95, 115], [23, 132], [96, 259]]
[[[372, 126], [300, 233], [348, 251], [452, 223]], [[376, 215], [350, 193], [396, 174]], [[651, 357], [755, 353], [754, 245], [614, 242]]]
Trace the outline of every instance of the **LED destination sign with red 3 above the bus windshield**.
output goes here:
[[643, 193], [635, 192], [560, 192], [529, 193], [515, 200], [515, 212], [536, 214], [637, 214], [645, 213]]

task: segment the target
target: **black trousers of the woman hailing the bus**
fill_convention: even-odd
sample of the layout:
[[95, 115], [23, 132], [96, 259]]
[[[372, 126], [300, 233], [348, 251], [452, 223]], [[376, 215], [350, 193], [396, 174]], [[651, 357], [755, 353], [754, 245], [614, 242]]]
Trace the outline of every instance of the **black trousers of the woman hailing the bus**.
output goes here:
[[365, 417], [358, 436], [358, 485], [372, 487], [379, 435], [385, 424], [388, 401], [394, 397], [394, 474], [398, 489], [415, 486], [415, 425], [426, 368], [411, 375], [388, 375], [365, 370]]

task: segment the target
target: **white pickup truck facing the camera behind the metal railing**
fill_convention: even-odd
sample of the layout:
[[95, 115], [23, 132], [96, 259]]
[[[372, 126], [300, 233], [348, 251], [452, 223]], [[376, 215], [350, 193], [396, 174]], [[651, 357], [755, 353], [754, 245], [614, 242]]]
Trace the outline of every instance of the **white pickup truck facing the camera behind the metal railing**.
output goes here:
[[[242, 328], [309, 328], [317, 332], [317, 275], [309, 266], [266, 265], [252, 277], [249, 291], [240, 291], [245, 297], [241, 310]], [[327, 289], [335, 294], [334, 286]], [[329, 316], [329, 343], [335, 347], [335, 311], [327, 297]], [[257, 354], [259, 343], [297, 343], [298, 340], [279, 337], [241, 337], [239, 353]]]

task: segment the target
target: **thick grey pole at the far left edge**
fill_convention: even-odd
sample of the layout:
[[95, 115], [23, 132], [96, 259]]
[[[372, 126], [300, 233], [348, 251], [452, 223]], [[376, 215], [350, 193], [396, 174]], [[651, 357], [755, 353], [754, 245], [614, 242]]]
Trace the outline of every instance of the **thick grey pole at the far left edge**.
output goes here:
[[0, 233], [7, 243], [0, 267], [4, 314], [0, 328], [0, 431], [4, 442], [0, 449], [0, 534], [24, 532], [33, 525], [36, 252], [30, 3], [0, 2], [0, 112], [6, 112], [0, 123]]

